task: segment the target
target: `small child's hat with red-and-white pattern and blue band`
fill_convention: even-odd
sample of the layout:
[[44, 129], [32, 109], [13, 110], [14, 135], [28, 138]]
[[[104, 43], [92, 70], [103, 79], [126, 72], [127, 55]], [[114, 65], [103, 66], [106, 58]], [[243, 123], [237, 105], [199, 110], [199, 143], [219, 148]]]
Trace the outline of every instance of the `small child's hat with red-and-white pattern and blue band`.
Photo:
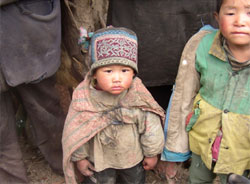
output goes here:
[[130, 66], [138, 73], [137, 51], [137, 36], [133, 31], [123, 27], [100, 29], [91, 38], [91, 73], [112, 64]]

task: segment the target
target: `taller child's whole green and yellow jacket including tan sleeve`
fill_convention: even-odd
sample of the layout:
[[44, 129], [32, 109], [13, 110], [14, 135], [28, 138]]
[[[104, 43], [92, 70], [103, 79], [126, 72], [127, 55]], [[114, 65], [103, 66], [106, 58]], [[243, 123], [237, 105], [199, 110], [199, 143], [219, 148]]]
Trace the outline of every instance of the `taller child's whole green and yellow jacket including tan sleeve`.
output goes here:
[[183, 133], [191, 111], [194, 125], [189, 131], [190, 150], [201, 156], [208, 169], [212, 165], [211, 147], [220, 128], [223, 136], [214, 172], [242, 175], [250, 169], [250, 67], [232, 70], [220, 33], [215, 30], [200, 31], [183, 51], [169, 109], [165, 158], [173, 152], [178, 155], [189, 151]]

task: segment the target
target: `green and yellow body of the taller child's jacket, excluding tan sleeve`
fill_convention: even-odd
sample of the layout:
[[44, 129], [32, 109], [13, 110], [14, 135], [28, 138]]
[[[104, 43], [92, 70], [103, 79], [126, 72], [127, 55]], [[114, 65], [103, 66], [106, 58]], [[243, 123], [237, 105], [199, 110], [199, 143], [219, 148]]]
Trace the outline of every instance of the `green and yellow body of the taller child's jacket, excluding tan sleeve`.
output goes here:
[[196, 51], [200, 73], [200, 115], [189, 132], [190, 149], [210, 169], [211, 147], [222, 128], [216, 173], [243, 174], [250, 169], [250, 67], [233, 71], [220, 46], [219, 32], [206, 35]]

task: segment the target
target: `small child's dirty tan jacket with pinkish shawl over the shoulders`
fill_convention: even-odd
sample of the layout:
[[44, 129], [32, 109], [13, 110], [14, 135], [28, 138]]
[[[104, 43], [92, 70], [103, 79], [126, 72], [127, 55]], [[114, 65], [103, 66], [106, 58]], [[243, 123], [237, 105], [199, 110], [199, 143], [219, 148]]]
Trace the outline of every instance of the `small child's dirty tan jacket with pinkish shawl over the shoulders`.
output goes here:
[[[90, 86], [87, 75], [86, 79], [79, 84], [73, 93], [64, 126], [62, 139], [63, 169], [67, 183], [76, 182], [72, 154], [74, 153], [75, 156], [75, 153], [79, 150], [81, 154], [81, 148], [84, 149], [85, 155], [83, 158], [87, 157], [90, 161], [95, 162], [97, 171], [100, 171], [108, 166], [113, 166], [112, 168], [131, 167], [132, 165], [129, 164], [136, 165], [143, 159], [143, 156], [155, 156], [161, 153], [164, 146], [163, 130], [160, 125], [160, 122], [164, 122], [164, 111], [139, 78], [134, 79], [131, 88], [126, 93], [119, 95], [120, 100], [116, 105], [113, 105], [112, 102], [109, 105], [109, 100], [106, 99], [98, 100], [100, 98], [99, 92], [95, 92], [95, 89]], [[119, 117], [120, 115], [122, 117]], [[147, 122], [149, 120], [148, 115], [149, 117], [155, 116], [155, 118], [149, 118], [155, 119], [155, 121]], [[133, 129], [138, 129], [138, 132], [133, 132], [135, 137], [132, 137], [132, 139], [139, 140], [138, 142], [141, 145], [136, 144], [135, 147], [140, 149], [134, 147], [128, 149], [129, 145], [126, 145], [126, 143], [129, 143], [128, 139]], [[128, 132], [126, 133], [126, 131]], [[114, 139], [116, 135], [123, 135], [123, 137]], [[115, 141], [117, 140], [120, 141], [118, 142], [120, 154], [125, 155], [126, 159], [123, 162], [121, 160], [118, 165], [112, 165], [115, 164], [116, 157], [113, 157], [113, 160], [112, 158], [110, 158], [111, 160], [108, 159], [106, 151], [113, 154], [117, 147], [112, 150], [112, 145], [116, 144]], [[103, 146], [105, 143], [109, 145], [110, 149]], [[94, 150], [97, 153], [92, 153], [92, 146], [95, 146]], [[124, 152], [122, 152], [122, 146], [124, 146]], [[130, 154], [130, 149], [137, 150], [137, 154]], [[105, 156], [103, 151], [105, 151]], [[126, 152], [128, 152], [128, 155], [126, 155]], [[119, 155], [117, 158], [119, 158]]]

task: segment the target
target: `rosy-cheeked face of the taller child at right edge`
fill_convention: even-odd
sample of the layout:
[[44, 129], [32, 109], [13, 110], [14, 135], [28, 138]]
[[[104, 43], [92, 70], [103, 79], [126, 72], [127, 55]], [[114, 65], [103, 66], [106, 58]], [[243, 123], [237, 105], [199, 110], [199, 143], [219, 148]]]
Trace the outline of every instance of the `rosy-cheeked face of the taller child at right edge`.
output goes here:
[[224, 0], [215, 17], [229, 48], [250, 48], [250, 0]]

